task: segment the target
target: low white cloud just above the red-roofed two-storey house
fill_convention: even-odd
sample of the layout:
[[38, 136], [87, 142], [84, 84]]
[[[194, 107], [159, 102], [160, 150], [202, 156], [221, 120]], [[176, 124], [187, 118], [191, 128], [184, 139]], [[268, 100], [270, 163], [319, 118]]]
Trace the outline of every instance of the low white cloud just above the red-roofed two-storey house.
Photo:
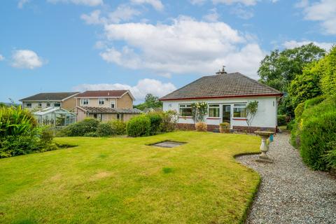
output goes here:
[[163, 97], [176, 90], [175, 85], [172, 83], [162, 83], [160, 80], [144, 78], [138, 81], [137, 85], [131, 86], [120, 83], [102, 83], [102, 84], [81, 84], [73, 87], [73, 91], [85, 90], [130, 90], [139, 101], [143, 101], [146, 94], [151, 93], [158, 97]]

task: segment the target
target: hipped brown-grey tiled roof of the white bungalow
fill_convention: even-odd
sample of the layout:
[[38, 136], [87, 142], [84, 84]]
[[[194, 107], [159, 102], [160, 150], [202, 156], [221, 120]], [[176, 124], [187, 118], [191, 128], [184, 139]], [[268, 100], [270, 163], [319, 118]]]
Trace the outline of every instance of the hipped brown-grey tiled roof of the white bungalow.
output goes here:
[[219, 73], [215, 76], [203, 76], [179, 90], [167, 94], [160, 100], [173, 99], [211, 99], [228, 97], [251, 97], [282, 95], [272, 87], [258, 83], [239, 72]]

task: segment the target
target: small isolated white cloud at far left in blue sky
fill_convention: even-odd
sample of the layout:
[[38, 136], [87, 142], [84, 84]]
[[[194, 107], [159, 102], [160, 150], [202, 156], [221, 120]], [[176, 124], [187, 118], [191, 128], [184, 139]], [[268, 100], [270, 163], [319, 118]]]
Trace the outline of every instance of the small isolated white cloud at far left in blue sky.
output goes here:
[[15, 50], [12, 66], [20, 69], [35, 69], [43, 65], [43, 60], [32, 50]]

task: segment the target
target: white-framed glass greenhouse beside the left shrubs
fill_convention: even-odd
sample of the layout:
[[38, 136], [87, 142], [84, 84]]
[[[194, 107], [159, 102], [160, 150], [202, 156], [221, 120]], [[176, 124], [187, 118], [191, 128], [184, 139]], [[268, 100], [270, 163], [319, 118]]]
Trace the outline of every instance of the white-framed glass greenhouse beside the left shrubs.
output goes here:
[[48, 107], [33, 113], [38, 125], [66, 126], [76, 122], [76, 113], [60, 107]]

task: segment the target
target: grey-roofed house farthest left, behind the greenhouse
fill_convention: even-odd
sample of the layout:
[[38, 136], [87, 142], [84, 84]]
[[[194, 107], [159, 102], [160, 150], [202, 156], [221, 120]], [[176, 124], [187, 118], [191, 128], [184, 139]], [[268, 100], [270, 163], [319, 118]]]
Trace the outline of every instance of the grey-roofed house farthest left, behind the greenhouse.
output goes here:
[[80, 92], [41, 92], [31, 97], [20, 99], [22, 108], [31, 110], [42, 110], [49, 107], [62, 107], [67, 111], [73, 111], [76, 108], [76, 99], [74, 98]]

